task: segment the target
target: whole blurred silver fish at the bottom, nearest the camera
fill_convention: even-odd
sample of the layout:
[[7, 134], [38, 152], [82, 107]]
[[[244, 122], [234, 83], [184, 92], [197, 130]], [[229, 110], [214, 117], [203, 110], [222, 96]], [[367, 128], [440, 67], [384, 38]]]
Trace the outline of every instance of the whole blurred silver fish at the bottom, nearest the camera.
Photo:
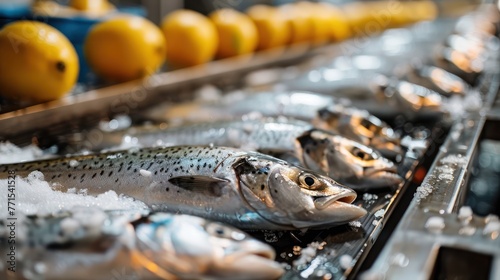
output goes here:
[[[284, 272], [271, 246], [190, 215], [75, 207], [24, 217], [17, 230], [28, 238], [16, 240], [16, 252], [22, 252], [16, 266], [23, 273], [12, 273], [12, 279], [83, 279], [90, 272], [93, 279], [277, 279]], [[6, 255], [9, 245], [0, 245]]]

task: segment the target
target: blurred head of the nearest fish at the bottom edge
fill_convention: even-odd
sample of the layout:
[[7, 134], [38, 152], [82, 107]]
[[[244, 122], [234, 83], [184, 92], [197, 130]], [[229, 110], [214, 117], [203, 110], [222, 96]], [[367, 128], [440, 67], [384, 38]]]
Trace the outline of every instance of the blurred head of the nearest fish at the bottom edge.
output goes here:
[[143, 258], [157, 265], [151, 270], [157, 276], [276, 279], [283, 274], [271, 246], [231, 226], [167, 213], [153, 214], [149, 221], [136, 229], [137, 246]]

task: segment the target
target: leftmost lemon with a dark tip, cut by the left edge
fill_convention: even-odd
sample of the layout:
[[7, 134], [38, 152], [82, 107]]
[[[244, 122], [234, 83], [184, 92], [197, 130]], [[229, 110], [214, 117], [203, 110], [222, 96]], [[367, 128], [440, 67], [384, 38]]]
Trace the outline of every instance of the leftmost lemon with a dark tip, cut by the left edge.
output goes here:
[[0, 30], [0, 92], [10, 99], [45, 102], [64, 96], [75, 84], [75, 48], [55, 28], [17, 21]]

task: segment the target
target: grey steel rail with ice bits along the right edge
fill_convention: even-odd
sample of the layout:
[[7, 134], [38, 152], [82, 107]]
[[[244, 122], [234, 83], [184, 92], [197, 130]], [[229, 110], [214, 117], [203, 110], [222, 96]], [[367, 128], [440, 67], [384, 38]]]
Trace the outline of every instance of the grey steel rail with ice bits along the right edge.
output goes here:
[[[365, 274], [367, 279], [410, 279], [408, 275], [411, 279], [434, 279], [438, 251], [443, 247], [491, 256], [489, 279], [500, 279], [500, 238], [484, 232], [491, 217], [463, 219], [460, 214], [484, 124], [497, 112], [490, 108], [499, 90], [499, 75], [498, 69], [491, 70], [481, 87], [485, 106], [454, 123], [400, 224]], [[432, 221], [437, 223], [433, 226]]]

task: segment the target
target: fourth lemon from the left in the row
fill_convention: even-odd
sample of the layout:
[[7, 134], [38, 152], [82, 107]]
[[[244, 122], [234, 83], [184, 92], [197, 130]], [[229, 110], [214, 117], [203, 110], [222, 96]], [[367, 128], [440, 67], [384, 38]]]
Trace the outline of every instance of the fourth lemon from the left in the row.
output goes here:
[[257, 47], [257, 28], [247, 15], [226, 8], [211, 13], [210, 19], [219, 37], [218, 58], [252, 53]]

